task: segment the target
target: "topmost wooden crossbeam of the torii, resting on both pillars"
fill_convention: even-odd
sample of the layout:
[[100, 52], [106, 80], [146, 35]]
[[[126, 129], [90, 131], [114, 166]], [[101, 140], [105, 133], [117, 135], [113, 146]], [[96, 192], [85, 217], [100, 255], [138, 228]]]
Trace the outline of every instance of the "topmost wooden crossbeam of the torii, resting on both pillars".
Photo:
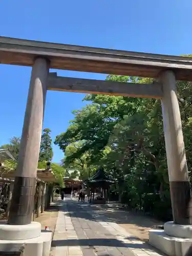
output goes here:
[[47, 57], [52, 69], [158, 77], [173, 70], [177, 80], [192, 80], [192, 58], [138, 53], [24, 40], [0, 36], [3, 64], [33, 66], [36, 56]]

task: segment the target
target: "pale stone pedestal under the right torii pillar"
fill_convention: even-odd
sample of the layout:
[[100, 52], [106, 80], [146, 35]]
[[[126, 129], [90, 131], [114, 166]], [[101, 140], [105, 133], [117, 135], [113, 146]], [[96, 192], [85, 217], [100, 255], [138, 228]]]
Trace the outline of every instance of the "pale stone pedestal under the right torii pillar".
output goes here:
[[149, 231], [149, 243], [168, 256], [192, 255], [192, 226], [166, 222], [164, 230]]

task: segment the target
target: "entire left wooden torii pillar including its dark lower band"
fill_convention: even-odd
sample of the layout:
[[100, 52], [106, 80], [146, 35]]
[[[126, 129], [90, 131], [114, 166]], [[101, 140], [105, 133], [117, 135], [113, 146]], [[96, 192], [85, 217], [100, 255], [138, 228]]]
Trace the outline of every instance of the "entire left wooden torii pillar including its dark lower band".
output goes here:
[[31, 223], [49, 61], [34, 60], [8, 224]]

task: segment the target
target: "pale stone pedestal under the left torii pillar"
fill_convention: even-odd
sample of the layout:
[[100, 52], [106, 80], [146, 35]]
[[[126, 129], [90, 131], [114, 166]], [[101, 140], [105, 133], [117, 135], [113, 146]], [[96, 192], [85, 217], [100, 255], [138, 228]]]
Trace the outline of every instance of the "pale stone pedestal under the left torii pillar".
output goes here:
[[0, 225], [0, 251], [25, 244], [25, 255], [49, 256], [51, 241], [52, 232], [41, 231], [38, 222], [31, 222], [28, 225]]

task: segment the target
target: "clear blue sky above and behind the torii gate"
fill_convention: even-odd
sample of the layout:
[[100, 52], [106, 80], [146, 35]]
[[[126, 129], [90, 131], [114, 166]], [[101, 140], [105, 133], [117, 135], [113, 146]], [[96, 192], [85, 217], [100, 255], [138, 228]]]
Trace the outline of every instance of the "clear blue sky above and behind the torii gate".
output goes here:
[[[191, 0], [2, 0], [2, 36], [169, 55], [192, 53]], [[22, 133], [31, 68], [0, 65], [0, 145]], [[58, 71], [104, 79], [102, 74]], [[129, 75], [129, 74], [127, 74]], [[44, 128], [65, 132], [83, 94], [48, 92]], [[63, 153], [53, 146], [53, 161]]]

